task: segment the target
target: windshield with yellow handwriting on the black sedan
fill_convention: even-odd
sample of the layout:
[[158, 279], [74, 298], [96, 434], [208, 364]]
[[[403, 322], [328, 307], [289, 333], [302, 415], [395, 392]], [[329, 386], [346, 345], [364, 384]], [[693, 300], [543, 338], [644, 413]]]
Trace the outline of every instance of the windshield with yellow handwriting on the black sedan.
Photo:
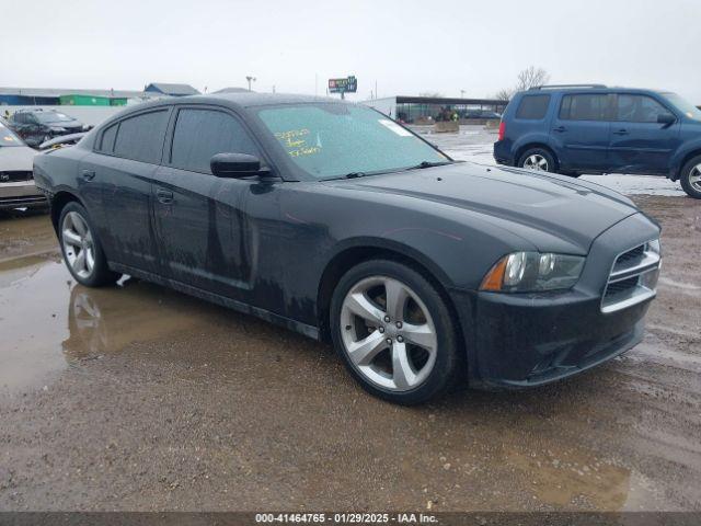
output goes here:
[[450, 159], [365, 106], [299, 104], [258, 111], [297, 167], [317, 179], [364, 175]]

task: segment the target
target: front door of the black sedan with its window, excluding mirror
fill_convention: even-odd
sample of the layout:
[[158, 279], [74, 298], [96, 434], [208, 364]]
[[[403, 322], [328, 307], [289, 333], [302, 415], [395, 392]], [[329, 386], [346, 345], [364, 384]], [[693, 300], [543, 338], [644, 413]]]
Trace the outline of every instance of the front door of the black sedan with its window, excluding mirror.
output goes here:
[[154, 175], [156, 232], [162, 272], [180, 283], [249, 300], [255, 244], [245, 202], [257, 179], [211, 174], [216, 153], [261, 157], [241, 121], [228, 110], [179, 106], [163, 165]]

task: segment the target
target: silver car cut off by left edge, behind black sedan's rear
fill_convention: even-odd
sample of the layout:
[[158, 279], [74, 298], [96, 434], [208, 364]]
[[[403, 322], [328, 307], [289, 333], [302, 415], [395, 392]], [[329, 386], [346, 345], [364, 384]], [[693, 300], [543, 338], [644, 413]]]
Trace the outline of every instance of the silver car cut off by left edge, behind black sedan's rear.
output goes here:
[[0, 122], [0, 210], [48, 206], [34, 184], [35, 155], [36, 151]]

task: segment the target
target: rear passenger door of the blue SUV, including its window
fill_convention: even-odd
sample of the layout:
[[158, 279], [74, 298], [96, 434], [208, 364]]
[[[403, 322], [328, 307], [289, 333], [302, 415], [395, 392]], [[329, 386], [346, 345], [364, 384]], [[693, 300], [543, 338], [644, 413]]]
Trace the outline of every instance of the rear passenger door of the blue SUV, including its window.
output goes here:
[[610, 101], [606, 93], [562, 95], [551, 130], [561, 168], [594, 172], [607, 169]]

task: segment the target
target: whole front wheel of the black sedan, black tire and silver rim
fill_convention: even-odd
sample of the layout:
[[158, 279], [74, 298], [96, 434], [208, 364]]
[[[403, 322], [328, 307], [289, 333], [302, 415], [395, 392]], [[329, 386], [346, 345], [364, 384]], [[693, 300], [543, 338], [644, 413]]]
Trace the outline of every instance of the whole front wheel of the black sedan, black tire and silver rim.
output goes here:
[[[390, 309], [388, 290], [402, 298]], [[435, 287], [406, 265], [371, 260], [350, 268], [334, 290], [330, 321], [347, 369], [376, 397], [418, 404], [443, 395], [458, 377], [461, 358], [450, 311]]]

